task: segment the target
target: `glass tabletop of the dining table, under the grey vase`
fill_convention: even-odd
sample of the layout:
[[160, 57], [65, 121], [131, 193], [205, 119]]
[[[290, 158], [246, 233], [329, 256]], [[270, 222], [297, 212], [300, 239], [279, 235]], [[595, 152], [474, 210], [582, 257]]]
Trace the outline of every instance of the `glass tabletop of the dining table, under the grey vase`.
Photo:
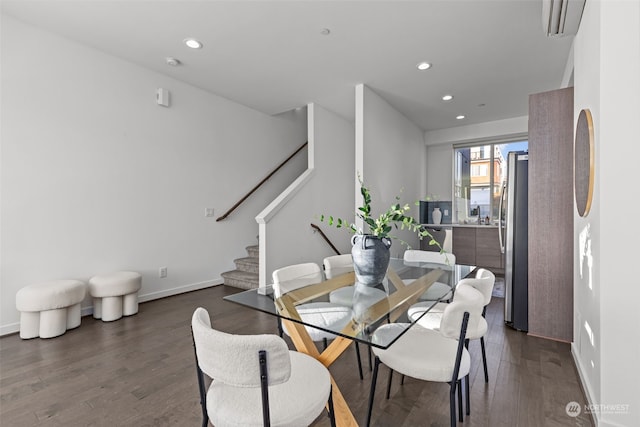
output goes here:
[[[224, 300], [385, 349], [435, 304], [449, 298], [451, 292], [455, 292], [455, 285], [475, 268], [466, 264], [407, 262], [392, 258], [385, 279], [375, 287], [360, 285], [355, 274], [350, 272], [279, 297], [262, 289], [252, 289], [225, 296]], [[328, 301], [339, 303], [319, 304], [319, 308], [309, 304]], [[410, 320], [407, 310], [417, 302], [423, 306], [422, 314]], [[328, 329], [326, 325], [331, 322], [326, 322], [326, 318], [343, 316], [345, 310], [350, 310], [347, 324]], [[374, 334], [380, 325], [390, 322], [399, 326], [392, 329], [393, 333]]]

